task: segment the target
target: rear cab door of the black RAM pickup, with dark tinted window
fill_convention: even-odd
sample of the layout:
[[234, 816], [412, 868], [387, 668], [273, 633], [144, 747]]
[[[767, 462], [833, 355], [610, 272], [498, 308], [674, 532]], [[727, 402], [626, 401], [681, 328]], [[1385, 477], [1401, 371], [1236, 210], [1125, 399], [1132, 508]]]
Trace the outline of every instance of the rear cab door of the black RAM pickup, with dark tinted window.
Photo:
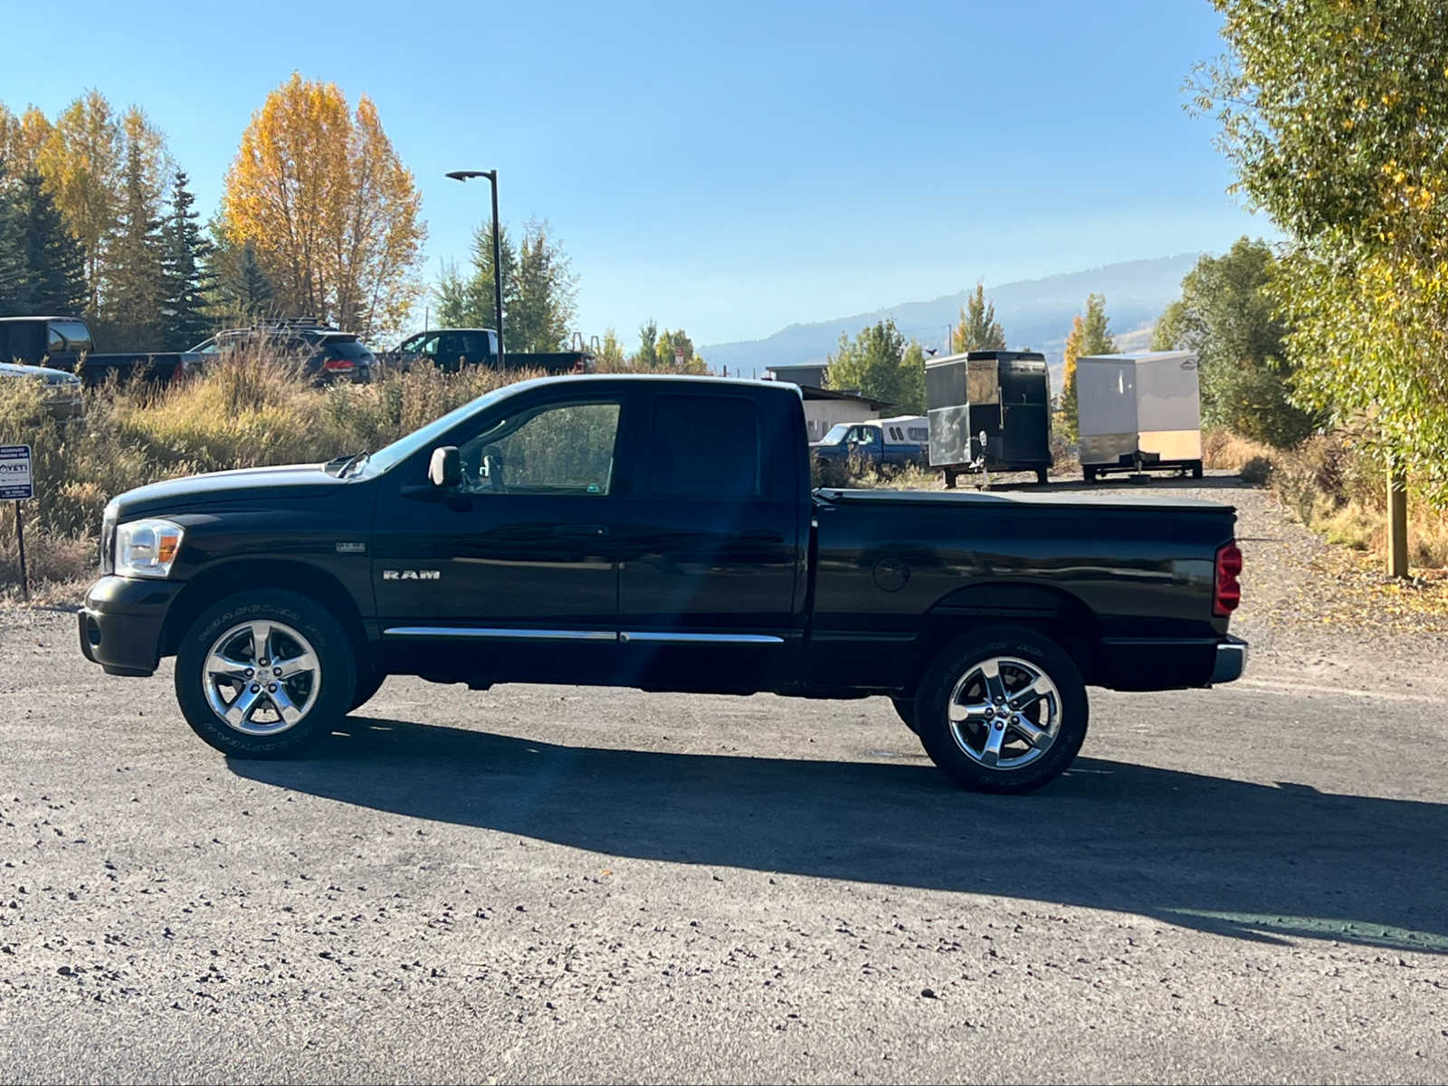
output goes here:
[[624, 682], [767, 686], [794, 637], [799, 437], [710, 388], [654, 394], [643, 434], [620, 549]]

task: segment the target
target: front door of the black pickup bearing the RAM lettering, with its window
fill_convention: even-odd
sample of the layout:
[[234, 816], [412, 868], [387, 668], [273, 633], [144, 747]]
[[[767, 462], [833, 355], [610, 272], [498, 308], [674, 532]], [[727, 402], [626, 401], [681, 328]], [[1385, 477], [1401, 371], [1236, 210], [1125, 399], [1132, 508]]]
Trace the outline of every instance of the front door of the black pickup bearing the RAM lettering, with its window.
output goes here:
[[400, 478], [384, 491], [372, 578], [398, 669], [611, 679], [624, 400], [581, 391], [510, 404], [458, 440], [456, 488]]

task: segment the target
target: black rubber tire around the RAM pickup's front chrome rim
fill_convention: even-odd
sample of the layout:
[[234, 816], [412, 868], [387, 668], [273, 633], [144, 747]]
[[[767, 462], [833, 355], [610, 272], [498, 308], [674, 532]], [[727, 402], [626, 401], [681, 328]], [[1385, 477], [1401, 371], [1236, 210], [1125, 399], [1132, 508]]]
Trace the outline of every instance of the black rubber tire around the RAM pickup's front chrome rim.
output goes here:
[[[261, 728], [261, 734], [242, 731], [219, 715], [209, 699], [209, 681], [204, 675], [206, 660], [217, 639], [237, 630], [235, 636], [242, 639], [239, 643], [251, 644], [251, 634], [239, 631], [239, 628], [252, 623], [288, 627], [290, 631], [300, 634], [310, 643], [316, 659], [314, 670], [294, 679], [284, 678], [279, 683], [269, 683], [279, 686], [284, 695], [306, 702], [300, 720], [285, 728], [277, 727], [271, 731], [265, 731], [265, 721], [261, 724], [248, 721], [252, 727]], [[297, 644], [285, 631], [278, 631], [264, 640], [266, 644], [261, 653], [256, 653], [255, 647], [249, 647], [239, 653], [233, 652], [232, 656], [242, 663], [251, 663], [252, 670], [262, 670], [255, 665], [268, 659], [265, 653], [278, 653], [275, 662], [268, 659], [268, 665], [284, 665], [287, 660], [281, 653], [288, 650], [287, 646], [294, 650]], [[253, 678], [271, 676], [262, 673]], [[298, 688], [295, 685], [298, 682], [304, 685]], [[258, 696], [256, 686], [253, 685], [251, 691], [253, 698]], [[239, 592], [209, 607], [182, 634], [177, 652], [175, 688], [181, 712], [191, 730], [223, 754], [255, 759], [287, 757], [303, 750], [319, 736], [332, 731], [346, 715], [348, 705], [358, 689], [356, 656], [342, 624], [314, 599], [297, 592], [271, 589]], [[240, 689], [230, 692], [235, 692], [237, 699], [243, 696], [248, 692], [245, 682], [242, 682]], [[314, 696], [311, 696], [313, 694]], [[265, 692], [261, 692], [259, 696], [264, 701], [259, 707], [262, 715], [278, 715], [277, 723], [281, 724], [279, 714], [274, 710], [275, 702], [266, 701]], [[224, 696], [222, 699], [235, 705], [235, 701]]]

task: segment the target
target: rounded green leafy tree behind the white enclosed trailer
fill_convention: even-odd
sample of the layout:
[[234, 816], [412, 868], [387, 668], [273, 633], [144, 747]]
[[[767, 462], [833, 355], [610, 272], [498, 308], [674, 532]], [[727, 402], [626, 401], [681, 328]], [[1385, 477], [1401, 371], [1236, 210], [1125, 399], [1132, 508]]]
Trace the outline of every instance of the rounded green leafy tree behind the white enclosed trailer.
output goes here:
[[1271, 248], [1247, 237], [1222, 256], [1203, 256], [1182, 279], [1182, 297], [1157, 321], [1151, 343], [1197, 352], [1208, 426], [1286, 449], [1318, 420], [1289, 398], [1293, 366], [1271, 294], [1276, 269]]

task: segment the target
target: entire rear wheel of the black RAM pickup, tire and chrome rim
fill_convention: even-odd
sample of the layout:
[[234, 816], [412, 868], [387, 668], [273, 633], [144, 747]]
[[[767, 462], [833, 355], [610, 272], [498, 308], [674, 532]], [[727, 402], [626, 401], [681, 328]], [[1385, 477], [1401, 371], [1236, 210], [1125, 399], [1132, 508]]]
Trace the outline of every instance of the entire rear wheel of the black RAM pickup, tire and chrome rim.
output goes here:
[[979, 792], [1030, 792], [1058, 778], [1086, 738], [1087, 712], [1076, 662], [1011, 626], [947, 644], [915, 695], [925, 753]]

